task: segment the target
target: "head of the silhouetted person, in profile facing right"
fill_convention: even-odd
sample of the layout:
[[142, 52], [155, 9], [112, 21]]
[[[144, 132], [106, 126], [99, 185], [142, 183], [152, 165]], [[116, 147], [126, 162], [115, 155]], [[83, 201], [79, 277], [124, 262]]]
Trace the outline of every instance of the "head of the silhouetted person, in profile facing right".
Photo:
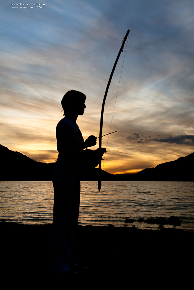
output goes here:
[[83, 115], [86, 105], [84, 104], [86, 95], [76, 90], [68, 91], [61, 101], [61, 106], [64, 110], [64, 116], [75, 114]]

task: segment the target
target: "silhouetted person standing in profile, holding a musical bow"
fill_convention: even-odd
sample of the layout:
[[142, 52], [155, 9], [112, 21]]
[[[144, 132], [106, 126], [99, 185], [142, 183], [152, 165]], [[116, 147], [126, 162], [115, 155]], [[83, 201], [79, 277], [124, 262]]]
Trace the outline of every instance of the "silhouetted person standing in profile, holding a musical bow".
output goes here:
[[[67, 92], [61, 101], [65, 117], [56, 127], [59, 154], [53, 168], [53, 250], [58, 273], [70, 271], [74, 267], [72, 244], [79, 217], [79, 172], [83, 164], [83, 149], [96, 145], [95, 136], [89, 136], [84, 142], [76, 124], [78, 115], [83, 115], [86, 108], [85, 100], [86, 96], [81, 92]], [[99, 160], [106, 149], [94, 152]]]

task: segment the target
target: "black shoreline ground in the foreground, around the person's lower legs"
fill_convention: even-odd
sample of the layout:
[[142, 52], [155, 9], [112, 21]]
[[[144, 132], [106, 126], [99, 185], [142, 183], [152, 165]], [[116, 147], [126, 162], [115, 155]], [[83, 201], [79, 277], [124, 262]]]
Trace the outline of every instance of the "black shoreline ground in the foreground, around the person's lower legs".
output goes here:
[[[0, 223], [1, 274], [8, 284], [28, 285], [29, 289], [35, 283], [53, 288], [52, 283], [60, 280], [51, 273], [51, 228]], [[151, 286], [153, 281], [163, 283], [170, 279], [175, 284], [184, 277], [187, 283], [193, 271], [193, 245], [193, 231], [78, 226], [75, 262], [83, 271], [70, 280], [72, 285], [78, 283], [92, 289], [96, 283]]]

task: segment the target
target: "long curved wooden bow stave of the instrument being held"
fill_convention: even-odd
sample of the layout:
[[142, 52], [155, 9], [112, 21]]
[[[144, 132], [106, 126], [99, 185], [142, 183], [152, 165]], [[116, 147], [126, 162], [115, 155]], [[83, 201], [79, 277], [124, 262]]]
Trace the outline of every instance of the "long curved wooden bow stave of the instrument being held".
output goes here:
[[[103, 99], [103, 102], [102, 102], [102, 110], [101, 110], [101, 116], [100, 116], [99, 148], [102, 148], [102, 126], [103, 126], [103, 114], [104, 114], [104, 105], [105, 105], [105, 101], [106, 101], [106, 96], [107, 96], [107, 93], [108, 93], [109, 86], [111, 84], [111, 79], [113, 77], [113, 73], [115, 71], [115, 67], [116, 67], [117, 62], [119, 60], [120, 54], [123, 51], [123, 47], [124, 47], [125, 41], [127, 40], [127, 37], [129, 35], [129, 31], [130, 30], [127, 30], [127, 33], [126, 33], [125, 37], [123, 38], [122, 46], [121, 46], [121, 48], [119, 50], [118, 56], [117, 56], [117, 58], [115, 60], [115, 64], [113, 66], [113, 69], [111, 71], [111, 75], [110, 75], [109, 80], [108, 80], [108, 84], [106, 86], [106, 91], [105, 91], [104, 99]], [[99, 160], [98, 168], [99, 168], [99, 176], [100, 176], [101, 175], [101, 159]], [[101, 181], [99, 180], [98, 181], [98, 191], [100, 191], [100, 189], [101, 189]]]

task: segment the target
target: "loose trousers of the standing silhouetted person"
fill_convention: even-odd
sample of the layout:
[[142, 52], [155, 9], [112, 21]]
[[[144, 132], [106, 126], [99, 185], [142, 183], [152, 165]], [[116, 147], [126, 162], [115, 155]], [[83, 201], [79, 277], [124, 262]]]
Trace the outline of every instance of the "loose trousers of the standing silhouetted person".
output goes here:
[[71, 269], [72, 244], [79, 217], [80, 181], [70, 168], [56, 164], [53, 187], [53, 252], [56, 271], [62, 273]]

